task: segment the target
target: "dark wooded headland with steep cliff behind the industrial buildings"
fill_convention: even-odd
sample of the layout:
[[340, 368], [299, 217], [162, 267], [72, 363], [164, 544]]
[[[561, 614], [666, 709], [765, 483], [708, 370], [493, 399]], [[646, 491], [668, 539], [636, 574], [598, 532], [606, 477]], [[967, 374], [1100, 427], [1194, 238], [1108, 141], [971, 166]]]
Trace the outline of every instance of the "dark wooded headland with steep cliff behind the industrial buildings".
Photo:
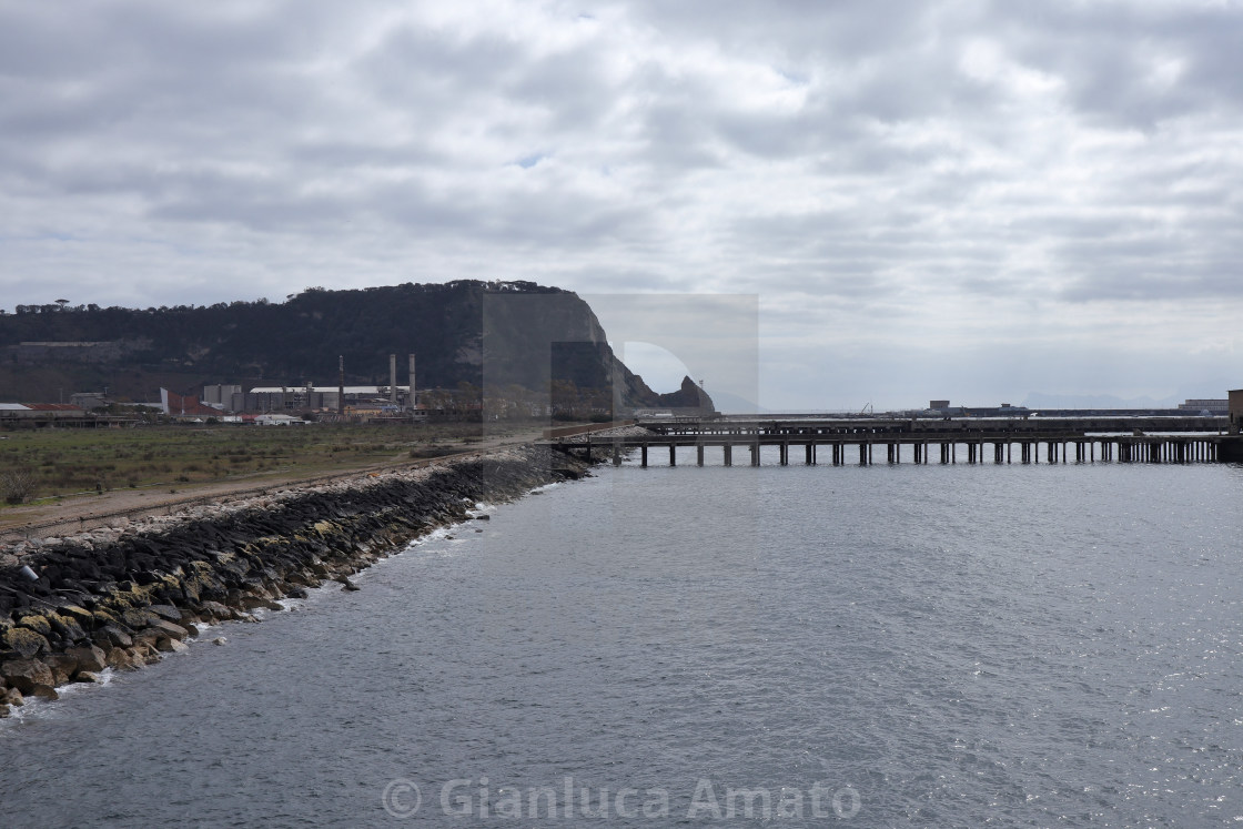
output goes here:
[[[62, 307], [65, 306], [65, 307]], [[620, 385], [623, 405], [660, 398], [618, 360], [595, 314], [569, 291], [533, 282], [462, 280], [351, 291], [307, 288], [286, 302], [209, 307], [17, 306], [0, 313], [0, 400], [56, 400], [104, 387], [152, 399], [159, 387], [203, 384], [387, 384], [389, 354], [419, 388], [552, 380], [578, 389]]]

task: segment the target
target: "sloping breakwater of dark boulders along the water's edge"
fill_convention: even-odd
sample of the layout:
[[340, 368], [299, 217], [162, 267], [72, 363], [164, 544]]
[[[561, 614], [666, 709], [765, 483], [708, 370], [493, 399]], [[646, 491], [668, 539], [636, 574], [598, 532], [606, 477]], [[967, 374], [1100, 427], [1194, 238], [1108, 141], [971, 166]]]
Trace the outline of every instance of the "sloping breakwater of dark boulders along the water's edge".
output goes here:
[[[409, 541], [585, 467], [525, 447], [291, 488], [0, 552], [0, 716], [254, 620]], [[29, 569], [27, 569], [29, 568]], [[37, 578], [31, 578], [37, 575]]]

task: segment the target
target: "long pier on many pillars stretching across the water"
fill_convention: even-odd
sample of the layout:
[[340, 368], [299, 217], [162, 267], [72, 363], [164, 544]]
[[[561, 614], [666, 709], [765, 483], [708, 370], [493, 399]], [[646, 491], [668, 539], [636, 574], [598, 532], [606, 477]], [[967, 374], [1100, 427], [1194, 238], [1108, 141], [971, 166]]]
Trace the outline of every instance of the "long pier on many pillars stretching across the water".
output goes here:
[[[584, 433], [547, 440], [564, 452], [620, 465], [638, 450], [639, 465], [676, 466], [679, 450], [709, 452], [725, 466], [759, 466], [764, 447], [777, 464], [1192, 464], [1236, 460], [1243, 447], [1226, 434], [1226, 418], [1049, 419], [756, 419], [640, 421], [625, 435]], [[769, 457], [773, 455], [768, 452]], [[772, 462], [772, 461], [769, 461]]]

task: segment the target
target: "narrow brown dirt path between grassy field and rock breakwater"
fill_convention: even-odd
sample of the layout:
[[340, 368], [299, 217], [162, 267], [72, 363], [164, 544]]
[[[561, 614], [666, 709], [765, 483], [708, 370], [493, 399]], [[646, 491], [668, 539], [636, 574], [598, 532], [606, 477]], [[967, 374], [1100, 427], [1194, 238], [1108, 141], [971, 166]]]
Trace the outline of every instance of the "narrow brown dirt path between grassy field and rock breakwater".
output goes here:
[[[505, 437], [485, 437], [462, 446], [462, 450], [440, 457], [370, 464], [333, 472], [273, 471], [249, 475], [232, 481], [177, 485], [172, 492], [168, 485], [140, 490], [113, 490], [102, 495], [78, 495], [56, 503], [39, 503], [12, 507], [0, 512], [0, 547], [24, 538], [46, 538], [96, 527], [119, 517], [172, 513], [194, 505], [225, 501], [239, 496], [255, 495], [267, 490], [353, 477], [385, 469], [426, 466], [447, 457], [466, 457], [503, 446], [517, 446], [537, 440], [542, 433], [531, 431]], [[469, 447], [467, 447], [469, 446]]]

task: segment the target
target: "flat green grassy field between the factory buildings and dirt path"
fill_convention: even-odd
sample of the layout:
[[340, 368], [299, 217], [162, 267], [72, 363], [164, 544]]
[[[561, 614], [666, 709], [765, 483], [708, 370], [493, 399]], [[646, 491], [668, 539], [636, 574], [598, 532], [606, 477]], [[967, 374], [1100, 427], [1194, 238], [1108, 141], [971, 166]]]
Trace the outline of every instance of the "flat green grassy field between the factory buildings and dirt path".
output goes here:
[[[490, 436], [497, 436], [490, 430]], [[312, 476], [462, 451], [479, 424], [305, 426], [186, 425], [0, 431], [0, 510], [6, 480], [31, 500], [119, 488], [193, 487], [259, 476]]]

